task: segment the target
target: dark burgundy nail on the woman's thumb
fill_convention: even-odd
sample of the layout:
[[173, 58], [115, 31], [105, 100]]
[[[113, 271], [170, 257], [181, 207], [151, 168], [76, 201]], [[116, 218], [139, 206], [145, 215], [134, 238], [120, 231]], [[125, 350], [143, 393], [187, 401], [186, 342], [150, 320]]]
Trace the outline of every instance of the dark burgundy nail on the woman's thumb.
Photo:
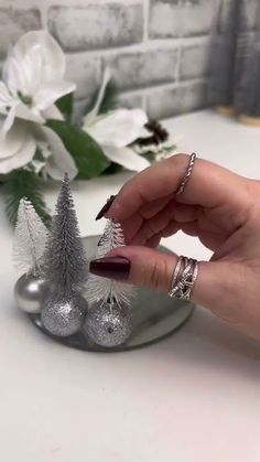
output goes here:
[[111, 279], [128, 279], [131, 264], [123, 257], [105, 257], [91, 260], [89, 271], [93, 275]]

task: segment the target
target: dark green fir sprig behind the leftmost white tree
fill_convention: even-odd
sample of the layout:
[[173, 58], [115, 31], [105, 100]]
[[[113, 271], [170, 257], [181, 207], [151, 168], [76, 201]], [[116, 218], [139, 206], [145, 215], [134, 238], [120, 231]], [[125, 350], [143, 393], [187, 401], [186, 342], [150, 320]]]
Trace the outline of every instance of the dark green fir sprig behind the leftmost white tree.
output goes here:
[[26, 197], [32, 202], [45, 225], [50, 226], [52, 218], [43, 200], [41, 181], [35, 173], [26, 170], [14, 170], [6, 178], [2, 192], [4, 194], [6, 212], [11, 225], [14, 226], [17, 223], [20, 200]]

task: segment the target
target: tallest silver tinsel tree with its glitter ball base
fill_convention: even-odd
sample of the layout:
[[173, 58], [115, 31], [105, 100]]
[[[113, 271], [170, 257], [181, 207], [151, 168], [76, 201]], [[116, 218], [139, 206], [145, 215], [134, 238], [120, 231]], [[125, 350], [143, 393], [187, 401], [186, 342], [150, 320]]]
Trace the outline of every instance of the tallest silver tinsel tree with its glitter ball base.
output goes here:
[[87, 261], [67, 174], [44, 253], [43, 276], [52, 288], [41, 311], [44, 327], [53, 335], [74, 335], [87, 314], [87, 302], [80, 294], [87, 279]]

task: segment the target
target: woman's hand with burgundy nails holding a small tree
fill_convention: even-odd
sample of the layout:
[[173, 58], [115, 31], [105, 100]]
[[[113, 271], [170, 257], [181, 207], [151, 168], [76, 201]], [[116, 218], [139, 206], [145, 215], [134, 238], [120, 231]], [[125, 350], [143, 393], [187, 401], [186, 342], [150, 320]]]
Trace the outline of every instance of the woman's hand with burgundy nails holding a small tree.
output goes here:
[[[182, 229], [214, 253], [198, 264], [192, 300], [260, 337], [260, 184], [197, 159], [176, 195], [187, 164], [187, 155], [173, 155], [123, 185], [106, 214], [122, 224], [127, 243], [109, 254], [110, 275], [167, 292], [177, 257], [154, 248]], [[91, 267], [105, 275], [102, 262]]]

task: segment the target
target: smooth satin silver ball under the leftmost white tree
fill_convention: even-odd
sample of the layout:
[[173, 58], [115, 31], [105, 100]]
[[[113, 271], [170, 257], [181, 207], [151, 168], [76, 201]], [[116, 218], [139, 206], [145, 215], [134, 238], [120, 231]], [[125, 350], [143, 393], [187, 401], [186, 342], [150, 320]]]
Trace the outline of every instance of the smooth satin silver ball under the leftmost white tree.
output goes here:
[[47, 283], [33, 275], [21, 276], [14, 286], [17, 305], [26, 313], [40, 313], [50, 292]]

